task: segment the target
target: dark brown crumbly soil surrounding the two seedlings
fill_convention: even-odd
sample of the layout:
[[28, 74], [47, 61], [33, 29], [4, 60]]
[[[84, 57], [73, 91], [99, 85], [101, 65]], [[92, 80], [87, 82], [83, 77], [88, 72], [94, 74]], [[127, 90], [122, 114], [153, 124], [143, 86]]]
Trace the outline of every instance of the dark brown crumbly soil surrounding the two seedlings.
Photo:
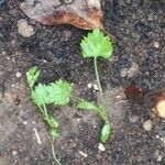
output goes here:
[[[96, 116], [76, 111], [72, 103], [51, 107], [61, 123], [57, 153], [64, 165], [163, 165], [165, 121], [153, 116], [152, 98], [165, 87], [164, 0], [106, 0], [102, 6], [105, 26], [116, 36], [112, 61], [99, 65], [113, 134], [101, 152], [102, 123]], [[20, 19], [33, 26], [31, 37], [18, 32]], [[82, 61], [79, 51], [85, 34], [70, 25], [43, 26], [26, 18], [12, 0], [1, 6], [0, 165], [53, 164], [46, 125], [25, 82], [30, 66], [42, 68], [40, 81], [62, 77], [74, 82], [81, 97], [97, 100], [97, 92], [87, 87], [95, 81], [92, 62]], [[130, 88], [124, 92], [129, 85], [145, 94], [130, 94]], [[146, 131], [143, 124], [148, 120], [152, 129]]]

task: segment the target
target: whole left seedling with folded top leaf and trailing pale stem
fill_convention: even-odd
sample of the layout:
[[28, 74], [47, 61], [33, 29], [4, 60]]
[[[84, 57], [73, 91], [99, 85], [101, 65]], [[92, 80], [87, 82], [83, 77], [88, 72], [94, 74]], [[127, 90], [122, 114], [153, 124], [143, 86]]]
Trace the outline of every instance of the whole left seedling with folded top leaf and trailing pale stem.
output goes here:
[[31, 98], [33, 102], [37, 106], [40, 113], [42, 114], [43, 120], [47, 123], [50, 129], [50, 135], [52, 136], [52, 153], [56, 164], [61, 165], [59, 160], [57, 160], [55, 150], [54, 150], [54, 141], [58, 138], [58, 122], [53, 117], [53, 114], [47, 110], [47, 105], [55, 106], [65, 106], [69, 102], [72, 87], [70, 84], [57, 80], [55, 82], [51, 82], [48, 85], [38, 84], [36, 86], [35, 82], [40, 76], [40, 70], [37, 67], [32, 67], [26, 73], [26, 80], [31, 88]]

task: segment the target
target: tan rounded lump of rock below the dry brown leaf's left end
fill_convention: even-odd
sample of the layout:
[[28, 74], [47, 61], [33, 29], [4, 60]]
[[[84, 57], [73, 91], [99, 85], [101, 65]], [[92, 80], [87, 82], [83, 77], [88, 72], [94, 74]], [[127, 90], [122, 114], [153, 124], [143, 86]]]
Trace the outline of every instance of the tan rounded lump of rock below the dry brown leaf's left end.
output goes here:
[[18, 31], [24, 37], [30, 37], [34, 34], [32, 25], [29, 25], [24, 19], [18, 21]]

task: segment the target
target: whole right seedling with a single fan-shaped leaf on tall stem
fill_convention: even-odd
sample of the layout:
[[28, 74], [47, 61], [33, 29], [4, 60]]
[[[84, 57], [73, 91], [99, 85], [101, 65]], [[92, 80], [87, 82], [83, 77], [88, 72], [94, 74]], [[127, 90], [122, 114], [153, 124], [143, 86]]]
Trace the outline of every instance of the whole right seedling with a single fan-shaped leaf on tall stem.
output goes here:
[[111, 134], [111, 128], [106, 111], [106, 101], [100, 84], [97, 59], [98, 57], [103, 57], [106, 59], [111, 57], [113, 52], [113, 45], [109, 36], [105, 36], [103, 33], [99, 30], [94, 30], [91, 33], [88, 33], [88, 35], [84, 37], [80, 43], [80, 47], [84, 58], [94, 58], [95, 74], [101, 100], [99, 105], [95, 106], [89, 101], [80, 99], [77, 103], [77, 108], [81, 110], [94, 111], [105, 121], [100, 140], [106, 143]]

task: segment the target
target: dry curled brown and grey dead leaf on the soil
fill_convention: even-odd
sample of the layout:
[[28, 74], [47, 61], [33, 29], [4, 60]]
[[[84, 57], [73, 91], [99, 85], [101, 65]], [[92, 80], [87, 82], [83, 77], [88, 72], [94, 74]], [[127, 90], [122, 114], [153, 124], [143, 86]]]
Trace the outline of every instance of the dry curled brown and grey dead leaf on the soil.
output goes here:
[[68, 23], [85, 30], [103, 30], [100, 0], [25, 0], [20, 8], [46, 25]]

